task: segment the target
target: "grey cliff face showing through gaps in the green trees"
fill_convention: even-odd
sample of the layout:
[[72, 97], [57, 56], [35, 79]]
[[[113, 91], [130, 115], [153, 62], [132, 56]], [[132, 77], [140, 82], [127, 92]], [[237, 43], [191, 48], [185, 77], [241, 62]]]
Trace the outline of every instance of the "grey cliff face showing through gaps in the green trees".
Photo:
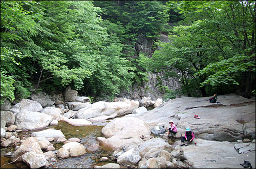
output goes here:
[[[159, 40], [161, 42], [169, 42], [168, 36], [160, 34]], [[153, 42], [145, 36], [139, 36], [134, 49], [137, 53], [147, 53], [147, 57], [151, 58], [154, 49], [152, 47]], [[148, 81], [144, 81], [141, 86], [135, 84], [129, 92], [123, 91], [118, 97], [124, 97], [127, 99], [141, 100], [143, 97], [151, 97], [152, 100], [157, 98], [163, 98], [164, 91], [160, 91], [160, 87], [166, 86], [167, 89], [180, 89], [181, 83], [177, 82], [174, 78], [164, 79], [163, 72], [150, 73], [148, 72]]]

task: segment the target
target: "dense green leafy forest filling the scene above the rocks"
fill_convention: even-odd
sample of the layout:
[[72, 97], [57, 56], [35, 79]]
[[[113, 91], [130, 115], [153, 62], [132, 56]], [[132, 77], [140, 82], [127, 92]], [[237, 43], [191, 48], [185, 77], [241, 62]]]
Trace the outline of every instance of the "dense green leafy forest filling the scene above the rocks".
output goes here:
[[166, 96], [250, 98], [255, 36], [255, 1], [1, 1], [1, 104], [68, 86], [114, 98], [147, 72], [182, 83]]

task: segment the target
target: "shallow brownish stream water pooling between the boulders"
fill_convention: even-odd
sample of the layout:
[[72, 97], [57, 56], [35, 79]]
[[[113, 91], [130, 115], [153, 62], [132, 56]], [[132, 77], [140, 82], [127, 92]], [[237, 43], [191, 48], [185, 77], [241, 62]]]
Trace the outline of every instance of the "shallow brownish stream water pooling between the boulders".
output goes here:
[[[98, 143], [96, 138], [101, 137], [101, 129], [103, 126], [72, 126], [66, 122], [59, 121], [58, 126], [50, 126], [47, 128], [55, 128], [57, 130], [61, 130], [61, 132], [65, 135], [66, 139], [76, 137], [81, 140], [80, 144], [82, 144], [85, 148]], [[47, 129], [46, 128], [46, 129]], [[45, 129], [42, 129], [45, 130]], [[34, 130], [34, 131], [26, 131], [29, 133], [41, 131], [41, 130]], [[26, 134], [26, 132], [21, 132], [19, 135]], [[56, 150], [62, 147], [63, 144], [54, 144]], [[1, 166], [9, 163], [9, 159], [4, 155], [7, 152], [14, 152], [14, 147], [8, 148], [1, 148]], [[86, 154], [79, 156], [79, 157], [70, 157], [67, 159], [58, 159], [56, 158], [57, 162], [53, 163], [53, 166], [49, 166], [49, 168], [93, 168], [93, 165], [104, 165], [109, 162], [116, 162], [112, 157], [113, 152], [111, 151], [102, 151], [98, 150], [93, 153], [87, 152]], [[110, 160], [106, 162], [101, 162], [99, 159], [101, 157], [108, 157]], [[26, 165], [23, 165], [26, 167]], [[17, 167], [14, 163], [5, 165], [1, 168], [20, 168]]]

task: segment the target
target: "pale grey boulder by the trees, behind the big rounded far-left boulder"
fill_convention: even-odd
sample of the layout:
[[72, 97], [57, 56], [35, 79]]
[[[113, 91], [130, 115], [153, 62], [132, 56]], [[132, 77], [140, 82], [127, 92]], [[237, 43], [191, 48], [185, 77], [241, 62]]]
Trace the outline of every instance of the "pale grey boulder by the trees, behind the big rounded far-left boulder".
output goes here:
[[42, 106], [40, 103], [30, 99], [22, 99], [22, 101], [18, 102], [14, 106], [11, 106], [10, 111], [13, 113], [18, 113], [21, 111], [41, 111]]

